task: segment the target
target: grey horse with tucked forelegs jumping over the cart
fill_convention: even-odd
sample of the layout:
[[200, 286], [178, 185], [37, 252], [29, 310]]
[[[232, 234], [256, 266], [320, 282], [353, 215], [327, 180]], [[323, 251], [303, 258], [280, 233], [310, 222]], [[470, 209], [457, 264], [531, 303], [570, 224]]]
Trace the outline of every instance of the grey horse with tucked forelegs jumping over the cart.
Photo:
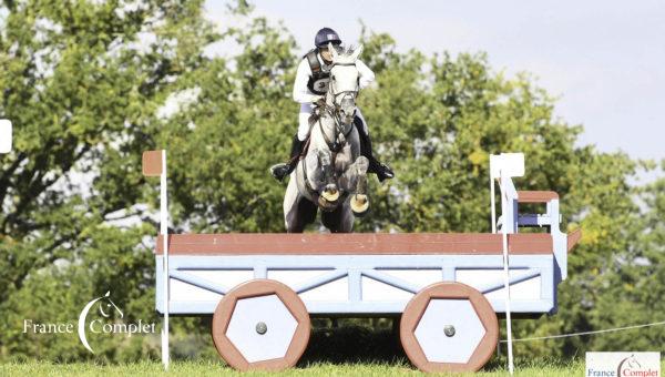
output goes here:
[[348, 233], [356, 216], [369, 208], [367, 169], [354, 126], [358, 70], [362, 45], [332, 52], [330, 83], [325, 100], [310, 120], [311, 132], [305, 159], [298, 162], [284, 196], [284, 222], [289, 233], [303, 232], [321, 210], [321, 222], [332, 233]]

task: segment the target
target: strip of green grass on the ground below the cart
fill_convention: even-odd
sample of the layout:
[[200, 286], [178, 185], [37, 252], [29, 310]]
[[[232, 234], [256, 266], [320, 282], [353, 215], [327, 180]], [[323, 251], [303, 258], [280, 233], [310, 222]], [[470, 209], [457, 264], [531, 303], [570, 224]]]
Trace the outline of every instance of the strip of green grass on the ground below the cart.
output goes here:
[[[503, 366], [489, 366], [479, 374], [443, 374], [443, 376], [508, 376]], [[583, 376], [584, 363], [570, 365], [516, 365], [515, 376]], [[413, 376], [423, 375], [407, 363], [392, 364], [311, 364], [298, 366], [279, 374], [241, 374], [223, 363], [176, 361], [164, 373], [156, 361], [121, 365], [85, 363], [9, 363], [0, 365], [0, 376]]]

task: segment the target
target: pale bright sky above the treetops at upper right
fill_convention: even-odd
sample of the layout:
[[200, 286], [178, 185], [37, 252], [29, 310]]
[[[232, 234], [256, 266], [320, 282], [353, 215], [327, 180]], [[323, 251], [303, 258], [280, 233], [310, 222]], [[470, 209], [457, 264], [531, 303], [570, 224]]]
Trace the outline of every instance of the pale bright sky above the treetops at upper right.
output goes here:
[[[400, 51], [484, 51], [497, 72], [530, 72], [556, 96], [556, 116], [584, 126], [580, 145], [665, 159], [665, 1], [250, 2], [255, 16], [283, 22], [303, 52], [323, 27], [357, 42], [359, 20]], [[229, 22], [225, 3], [206, 2], [221, 28]]]

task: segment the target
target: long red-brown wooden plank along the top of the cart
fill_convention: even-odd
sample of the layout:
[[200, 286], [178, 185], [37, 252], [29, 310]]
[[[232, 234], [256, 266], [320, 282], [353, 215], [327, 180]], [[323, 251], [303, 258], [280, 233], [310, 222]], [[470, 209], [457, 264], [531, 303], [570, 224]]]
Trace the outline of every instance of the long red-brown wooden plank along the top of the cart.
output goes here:
[[[490, 233], [350, 233], [172, 234], [172, 255], [362, 255], [362, 254], [502, 254], [501, 234]], [[156, 254], [162, 254], [162, 236]], [[546, 233], [509, 235], [511, 254], [552, 254]]]

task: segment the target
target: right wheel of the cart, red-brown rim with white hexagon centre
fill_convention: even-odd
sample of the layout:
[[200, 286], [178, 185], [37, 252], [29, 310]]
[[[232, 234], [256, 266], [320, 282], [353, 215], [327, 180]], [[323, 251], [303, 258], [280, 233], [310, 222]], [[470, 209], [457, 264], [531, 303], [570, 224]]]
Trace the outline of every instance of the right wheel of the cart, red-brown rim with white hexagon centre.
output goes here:
[[475, 371], [492, 356], [499, 322], [488, 299], [461, 283], [436, 283], [405, 308], [400, 339], [423, 371]]

